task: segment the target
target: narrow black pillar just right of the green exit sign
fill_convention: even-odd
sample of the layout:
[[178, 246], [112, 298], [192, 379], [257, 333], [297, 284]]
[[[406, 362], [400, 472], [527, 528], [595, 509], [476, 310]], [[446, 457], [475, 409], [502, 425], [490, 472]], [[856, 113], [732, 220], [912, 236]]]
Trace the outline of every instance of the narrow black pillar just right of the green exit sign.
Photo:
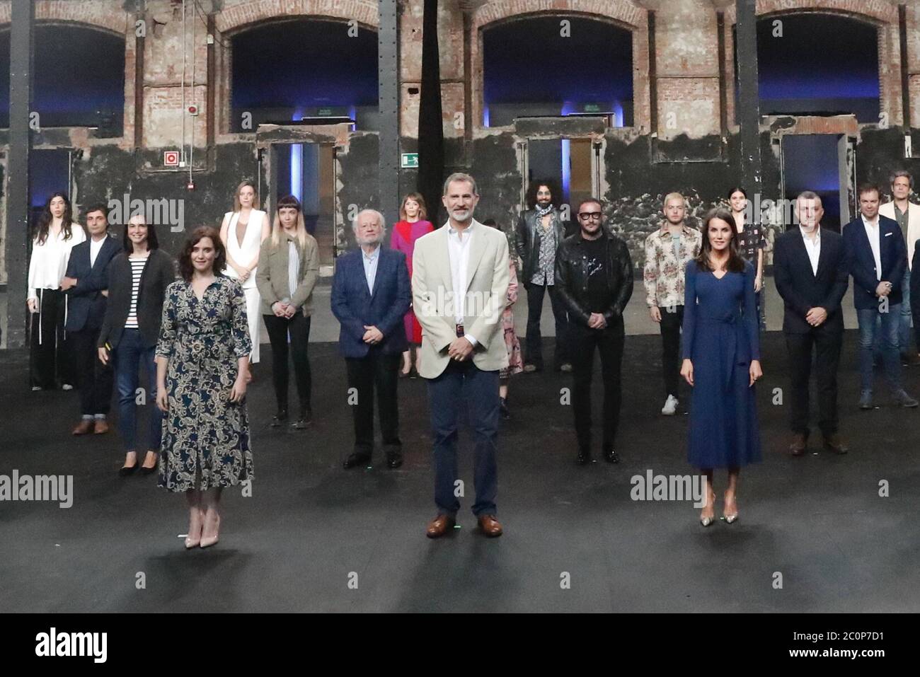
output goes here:
[[[419, 179], [428, 204], [428, 220], [440, 225], [444, 180], [444, 129], [441, 109], [441, 63], [438, 53], [438, 0], [425, 0], [421, 25], [421, 100], [419, 102]], [[472, 125], [466, 128], [468, 133]]]

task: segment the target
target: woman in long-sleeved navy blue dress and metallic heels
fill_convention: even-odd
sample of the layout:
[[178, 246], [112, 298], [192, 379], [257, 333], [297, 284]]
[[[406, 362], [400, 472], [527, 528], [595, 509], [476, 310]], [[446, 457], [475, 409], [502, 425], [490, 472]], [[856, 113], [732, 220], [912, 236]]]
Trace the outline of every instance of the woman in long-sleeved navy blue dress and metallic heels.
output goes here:
[[707, 213], [703, 247], [687, 264], [684, 291], [684, 365], [693, 387], [687, 457], [707, 477], [700, 523], [715, 519], [714, 468], [727, 468], [723, 519], [738, 519], [735, 490], [742, 465], [761, 460], [753, 384], [760, 368], [753, 266], [738, 253], [734, 218]]

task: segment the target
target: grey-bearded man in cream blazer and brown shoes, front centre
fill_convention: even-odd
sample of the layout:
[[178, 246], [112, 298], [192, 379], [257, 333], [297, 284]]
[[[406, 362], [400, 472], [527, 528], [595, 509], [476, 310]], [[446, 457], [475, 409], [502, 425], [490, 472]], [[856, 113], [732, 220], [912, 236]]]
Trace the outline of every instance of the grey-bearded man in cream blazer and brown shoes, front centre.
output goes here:
[[473, 514], [487, 536], [500, 536], [495, 496], [499, 429], [499, 370], [508, 366], [501, 311], [508, 293], [508, 240], [473, 218], [476, 179], [452, 174], [444, 182], [447, 224], [415, 243], [412, 304], [422, 327], [420, 376], [429, 380], [434, 438], [434, 502], [428, 526], [437, 538], [453, 529], [460, 501], [457, 425], [466, 406], [476, 431]]

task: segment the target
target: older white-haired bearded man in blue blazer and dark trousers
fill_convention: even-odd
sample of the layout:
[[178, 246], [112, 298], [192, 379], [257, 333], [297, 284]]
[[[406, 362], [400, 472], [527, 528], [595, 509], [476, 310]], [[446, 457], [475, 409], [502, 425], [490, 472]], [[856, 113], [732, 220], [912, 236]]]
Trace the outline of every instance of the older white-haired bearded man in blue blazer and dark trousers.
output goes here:
[[348, 469], [371, 460], [376, 387], [386, 465], [397, 468], [402, 465], [397, 382], [402, 353], [408, 350], [403, 316], [411, 303], [406, 255], [381, 247], [386, 227], [380, 212], [364, 210], [352, 227], [361, 248], [336, 261], [331, 299], [341, 324], [339, 351], [348, 369], [354, 417], [354, 452], [343, 465]]

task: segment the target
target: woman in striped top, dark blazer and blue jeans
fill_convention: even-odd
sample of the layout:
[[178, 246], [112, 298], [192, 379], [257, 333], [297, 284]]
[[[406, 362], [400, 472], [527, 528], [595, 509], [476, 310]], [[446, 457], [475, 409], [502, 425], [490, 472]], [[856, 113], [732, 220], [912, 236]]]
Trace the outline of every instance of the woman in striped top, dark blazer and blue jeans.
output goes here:
[[144, 365], [149, 384], [145, 401], [150, 403], [150, 423], [141, 472], [148, 475], [156, 470], [163, 427], [163, 413], [154, 404], [156, 340], [160, 335], [163, 299], [167, 286], [176, 279], [176, 270], [173, 259], [159, 248], [155, 227], [148, 225], [142, 214], [128, 220], [123, 243], [124, 251], [109, 263], [109, 304], [99, 330], [99, 361], [108, 364], [109, 353], [114, 351], [118, 424], [125, 447], [121, 476], [131, 475], [138, 467], [136, 393], [138, 371]]

